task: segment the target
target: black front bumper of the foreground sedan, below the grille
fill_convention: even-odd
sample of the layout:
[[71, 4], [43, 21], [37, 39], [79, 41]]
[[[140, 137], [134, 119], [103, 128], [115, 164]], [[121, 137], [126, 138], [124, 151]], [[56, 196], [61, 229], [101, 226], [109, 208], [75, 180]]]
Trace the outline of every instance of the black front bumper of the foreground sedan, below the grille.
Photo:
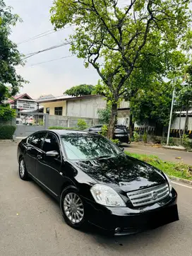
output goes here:
[[140, 209], [105, 207], [86, 202], [88, 221], [113, 235], [130, 235], [178, 221], [177, 194], [173, 189], [161, 202]]

